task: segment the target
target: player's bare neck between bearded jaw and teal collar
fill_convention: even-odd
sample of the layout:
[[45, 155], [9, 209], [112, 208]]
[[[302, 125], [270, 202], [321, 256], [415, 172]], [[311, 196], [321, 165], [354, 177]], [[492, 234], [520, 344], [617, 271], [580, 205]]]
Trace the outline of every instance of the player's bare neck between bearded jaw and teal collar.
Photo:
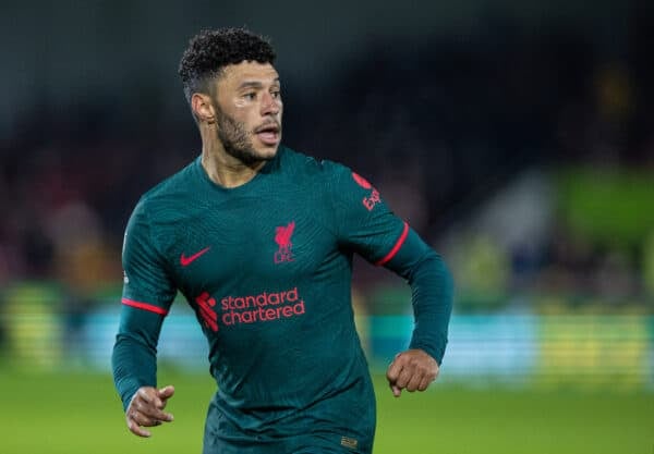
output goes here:
[[214, 183], [231, 188], [241, 186], [256, 176], [265, 161], [245, 163], [229, 155], [218, 138], [203, 137], [202, 167]]

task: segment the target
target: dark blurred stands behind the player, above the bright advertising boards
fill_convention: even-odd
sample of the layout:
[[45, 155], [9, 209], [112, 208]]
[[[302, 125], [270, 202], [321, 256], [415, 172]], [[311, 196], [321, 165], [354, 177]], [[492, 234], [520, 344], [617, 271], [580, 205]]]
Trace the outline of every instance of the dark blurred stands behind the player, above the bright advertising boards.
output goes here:
[[[650, 1], [3, 1], [0, 340], [29, 302], [63, 332], [116, 307], [131, 210], [199, 152], [180, 57], [220, 26], [270, 37], [283, 142], [371, 180], [456, 312], [651, 312]], [[405, 307], [388, 280], [361, 267], [355, 302]]]

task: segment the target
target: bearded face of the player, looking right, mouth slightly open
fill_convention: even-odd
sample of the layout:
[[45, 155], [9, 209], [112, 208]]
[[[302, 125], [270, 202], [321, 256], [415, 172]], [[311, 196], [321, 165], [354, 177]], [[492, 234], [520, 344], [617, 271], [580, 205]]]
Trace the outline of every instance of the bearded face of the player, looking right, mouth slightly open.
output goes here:
[[225, 68], [216, 96], [218, 139], [244, 163], [275, 158], [281, 140], [279, 74], [269, 63], [242, 62]]

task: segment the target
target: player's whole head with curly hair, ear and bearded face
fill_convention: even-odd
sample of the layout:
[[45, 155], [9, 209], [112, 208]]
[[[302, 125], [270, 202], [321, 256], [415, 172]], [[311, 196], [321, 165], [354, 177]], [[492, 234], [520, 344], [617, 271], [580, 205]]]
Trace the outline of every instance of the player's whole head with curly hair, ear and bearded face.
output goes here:
[[275, 157], [282, 102], [275, 50], [243, 28], [204, 30], [182, 56], [179, 73], [193, 115], [215, 130], [225, 150], [250, 163]]

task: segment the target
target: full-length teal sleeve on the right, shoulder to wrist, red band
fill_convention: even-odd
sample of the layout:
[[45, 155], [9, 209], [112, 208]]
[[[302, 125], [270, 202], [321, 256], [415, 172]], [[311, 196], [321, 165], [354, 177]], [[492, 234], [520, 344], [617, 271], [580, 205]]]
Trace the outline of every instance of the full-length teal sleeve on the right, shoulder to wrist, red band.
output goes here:
[[390, 211], [371, 183], [346, 167], [329, 165], [334, 171], [330, 192], [339, 242], [408, 281], [415, 319], [410, 348], [421, 348], [441, 364], [453, 292], [447, 266]]

